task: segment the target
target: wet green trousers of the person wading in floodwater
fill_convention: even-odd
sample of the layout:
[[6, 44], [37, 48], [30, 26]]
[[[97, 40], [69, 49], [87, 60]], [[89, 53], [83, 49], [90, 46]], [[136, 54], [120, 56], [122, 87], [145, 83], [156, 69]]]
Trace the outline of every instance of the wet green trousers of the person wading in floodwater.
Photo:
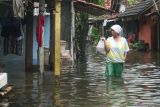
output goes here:
[[123, 72], [123, 63], [106, 62], [105, 77], [121, 77]]

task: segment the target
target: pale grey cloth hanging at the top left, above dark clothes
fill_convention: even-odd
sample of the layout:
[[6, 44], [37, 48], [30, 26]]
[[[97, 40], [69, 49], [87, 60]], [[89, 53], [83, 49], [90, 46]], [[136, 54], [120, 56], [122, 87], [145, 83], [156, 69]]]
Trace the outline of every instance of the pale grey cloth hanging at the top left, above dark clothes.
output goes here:
[[24, 18], [24, 5], [22, 0], [13, 0], [13, 13], [15, 17]]

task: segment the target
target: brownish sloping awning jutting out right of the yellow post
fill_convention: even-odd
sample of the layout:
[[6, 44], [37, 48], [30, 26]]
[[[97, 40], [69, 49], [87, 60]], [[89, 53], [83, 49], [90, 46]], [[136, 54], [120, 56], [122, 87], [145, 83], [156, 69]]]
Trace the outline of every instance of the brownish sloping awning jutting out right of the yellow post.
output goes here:
[[84, 0], [74, 0], [74, 7], [76, 11], [86, 12], [88, 14], [92, 14], [95, 16], [100, 16], [100, 15], [113, 12], [112, 10], [105, 9], [100, 5], [86, 2]]

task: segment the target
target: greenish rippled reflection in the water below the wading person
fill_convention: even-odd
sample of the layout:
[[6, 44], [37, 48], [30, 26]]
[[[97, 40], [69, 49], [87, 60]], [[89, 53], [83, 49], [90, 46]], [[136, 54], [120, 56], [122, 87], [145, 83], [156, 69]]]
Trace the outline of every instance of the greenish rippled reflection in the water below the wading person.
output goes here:
[[123, 78], [107, 78], [106, 94], [109, 107], [126, 107], [129, 103]]

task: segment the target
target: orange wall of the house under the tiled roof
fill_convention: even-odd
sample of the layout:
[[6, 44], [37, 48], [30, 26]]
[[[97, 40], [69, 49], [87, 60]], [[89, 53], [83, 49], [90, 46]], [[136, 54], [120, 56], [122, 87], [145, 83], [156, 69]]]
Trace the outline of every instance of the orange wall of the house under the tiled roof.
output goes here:
[[144, 40], [149, 44], [149, 50], [151, 50], [151, 18], [141, 20], [139, 27], [139, 40]]

